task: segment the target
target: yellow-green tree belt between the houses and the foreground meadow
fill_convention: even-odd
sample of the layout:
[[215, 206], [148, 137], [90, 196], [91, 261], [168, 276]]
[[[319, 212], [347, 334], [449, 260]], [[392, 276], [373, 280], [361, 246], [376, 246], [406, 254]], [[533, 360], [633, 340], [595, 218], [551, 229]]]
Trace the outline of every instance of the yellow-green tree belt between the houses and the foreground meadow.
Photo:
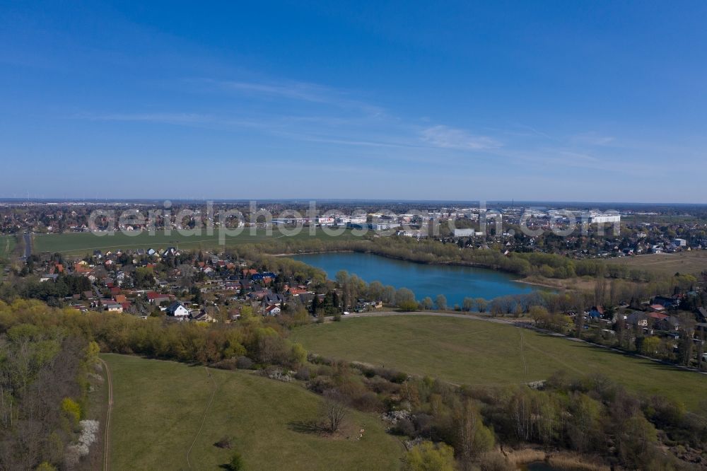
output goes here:
[[28, 323], [44, 330], [96, 342], [101, 351], [141, 354], [187, 363], [217, 364], [248, 356], [262, 364], [295, 367], [303, 361], [303, 350], [286, 339], [286, 322], [308, 322], [307, 313], [276, 322], [254, 315], [250, 307], [241, 310], [238, 324], [169, 322], [164, 318], [146, 320], [130, 315], [80, 313], [65, 308], [52, 309], [36, 301], [18, 300], [8, 305], [0, 301], [0, 332]]

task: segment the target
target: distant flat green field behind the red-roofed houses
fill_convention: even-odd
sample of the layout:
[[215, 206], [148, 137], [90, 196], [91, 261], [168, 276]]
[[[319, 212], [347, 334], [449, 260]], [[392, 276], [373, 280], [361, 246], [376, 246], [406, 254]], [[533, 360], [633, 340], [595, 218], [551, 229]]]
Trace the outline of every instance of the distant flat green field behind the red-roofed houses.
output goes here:
[[[245, 228], [238, 236], [230, 236], [225, 238], [223, 247], [235, 247], [247, 243], [262, 243], [267, 240], [279, 240], [286, 242], [288, 240], [351, 240], [358, 238], [351, 234], [351, 231], [346, 231], [341, 236], [332, 237], [324, 233], [320, 228], [317, 228], [317, 233], [310, 236], [308, 228], [295, 236], [284, 236], [277, 229], [273, 229], [271, 235], [267, 235], [264, 229], [259, 229], [255, 236], [250, 235], [250, 229]], [[125, 233], [116, 232], [115, 234], [97, 236], [90, 232], [85, 233], [63, 233], [63, 234], [35, 234], [34, 236], [34, 252], [62, 252], [64, 255], [83, 256], [92, 254], [93, 250], [115, 251], [117, 249], [139, 249], [139, 248], [167, 248], [175, 246], [180, 249], [203, 249], [211, 250], [221, 247], [218, 239], [218, 231], [214, 231], [213, 236], [206, 236], [205, 231], [202, 236], [180, 236], [177, 231], [172, 231], [170, 235], [164, 232], [156, 232], [150, 235], [148, 232], [136, 232], [135, 235], [126, 235]]]

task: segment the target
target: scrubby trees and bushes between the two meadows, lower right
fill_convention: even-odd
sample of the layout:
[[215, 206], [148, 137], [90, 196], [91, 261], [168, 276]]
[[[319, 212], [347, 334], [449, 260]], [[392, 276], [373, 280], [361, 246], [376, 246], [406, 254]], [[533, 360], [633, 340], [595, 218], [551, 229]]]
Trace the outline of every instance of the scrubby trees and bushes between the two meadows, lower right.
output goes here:
[[[438, 443], [416, 447], [411, 453], [423, 456], [406, 460], [408, 470], [431, 469], [414, 464], [430, 461], [437, 463], [434, 469], [515, 470], [496, 451], [499, 443], [561, 448], [578, 453], [580, 463], [593, 457], [602, 465], [641, 470], [689, 470], [674, 453], [706, 451], [703, 419], [677, 402], [631, 394], [602, 376], [556, 373], [538, 389], [457, 387], [317, 356], [297, 376], [318, 394], [383, 412], [394, 434]], [[452, 447], [453, 455], [439, 453], [440, 443]]]

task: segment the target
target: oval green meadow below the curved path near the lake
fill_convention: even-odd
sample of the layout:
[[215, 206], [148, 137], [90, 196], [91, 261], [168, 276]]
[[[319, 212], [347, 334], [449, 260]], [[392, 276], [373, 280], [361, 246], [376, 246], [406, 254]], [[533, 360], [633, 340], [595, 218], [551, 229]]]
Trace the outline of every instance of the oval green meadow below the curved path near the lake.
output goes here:
[[[631, 390], [674, 397], [695, 409], [707, 376], [511, 325], [421, 315], [354, 318], [298, 327], [308, 351], [467, 385], [508, 385], [602, 373]], [[522, 337], [522, 338], [521, 338]]]

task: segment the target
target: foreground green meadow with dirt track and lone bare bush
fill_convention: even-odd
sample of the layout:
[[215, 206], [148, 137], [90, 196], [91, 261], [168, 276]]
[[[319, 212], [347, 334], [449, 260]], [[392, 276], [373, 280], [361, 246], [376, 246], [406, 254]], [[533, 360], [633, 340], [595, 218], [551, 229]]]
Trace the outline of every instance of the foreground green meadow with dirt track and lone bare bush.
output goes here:
[[[246, 470], [390, 470], [403, 447], [373, 414], [350, 411], [345, 434], [328, 438], [294, 431], [317, 417], [321, 397], [301, 384], [244, 371], [107, 354], [114, 405], [110, 419], [113, 470], [218, 470], [233, 450]], [[212, 392], [214, 400], [209, 405]], [[204, 415], [204, 411], [206, 414]], [[365, 433], [357, 441], [358, 429]], [[349, 435], [350, 433], [350, 435]], [[233, 450], [217, 448], [233, 437]]]

